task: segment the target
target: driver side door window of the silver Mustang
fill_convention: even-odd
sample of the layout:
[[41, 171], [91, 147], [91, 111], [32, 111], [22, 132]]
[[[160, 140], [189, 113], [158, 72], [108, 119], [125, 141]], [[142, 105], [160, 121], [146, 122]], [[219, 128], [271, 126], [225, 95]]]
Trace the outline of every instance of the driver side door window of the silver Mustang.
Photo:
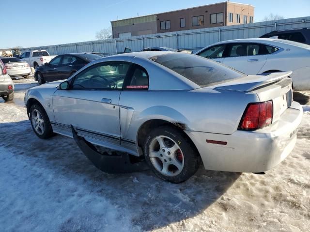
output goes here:
[[76, 76], [73, 89], [122, 88], [129, 66], [125, 62], [95, 64]]

